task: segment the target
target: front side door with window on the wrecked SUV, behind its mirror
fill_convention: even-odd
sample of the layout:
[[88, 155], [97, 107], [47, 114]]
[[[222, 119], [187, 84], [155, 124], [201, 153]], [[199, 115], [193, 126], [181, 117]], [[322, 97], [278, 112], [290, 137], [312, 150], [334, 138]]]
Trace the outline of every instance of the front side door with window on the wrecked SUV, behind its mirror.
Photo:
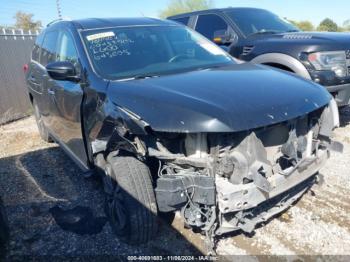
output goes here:
[[[80, 75], [81, 65], [72, 34], [65, 29], [59, 31], [56, 47], [56, 61], [71, 62]], [[50, 115], [53, 119], [52, 132], [61, 145], [77, 160], [82, 168], [87, 168], [87, 155], [82, 134], [81, 103], [83, 89], [80, 83], [50, 80], [48, 93], [51, 99]]]

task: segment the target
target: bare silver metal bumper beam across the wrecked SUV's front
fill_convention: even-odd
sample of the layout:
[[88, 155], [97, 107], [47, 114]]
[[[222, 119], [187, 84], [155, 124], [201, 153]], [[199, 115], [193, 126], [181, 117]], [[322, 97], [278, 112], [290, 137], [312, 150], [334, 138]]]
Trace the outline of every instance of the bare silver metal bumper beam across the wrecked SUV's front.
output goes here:
[[329, 151], [319, 150], [303, 159], [297, 167], [284, 174], [274, 174], [266, 181], [234, 185], [216, 177], [221, 226], [216, 234], [235, 230], [252, 232], [257, 224], [287, 209], [309, 187], [314, 175], [329, 158]]

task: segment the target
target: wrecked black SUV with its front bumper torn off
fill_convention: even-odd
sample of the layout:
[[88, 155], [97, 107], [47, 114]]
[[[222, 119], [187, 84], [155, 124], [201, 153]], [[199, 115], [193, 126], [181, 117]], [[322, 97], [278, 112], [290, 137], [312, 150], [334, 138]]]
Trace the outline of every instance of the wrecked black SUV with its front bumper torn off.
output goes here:
[[41, 137], [101, 175], [129, 243], [175, 211], [211, 239], [251, 232], [312, 185], [337, 145], [325, 88], [241, 64], [172, 21], [54, 22], [26, 78]]

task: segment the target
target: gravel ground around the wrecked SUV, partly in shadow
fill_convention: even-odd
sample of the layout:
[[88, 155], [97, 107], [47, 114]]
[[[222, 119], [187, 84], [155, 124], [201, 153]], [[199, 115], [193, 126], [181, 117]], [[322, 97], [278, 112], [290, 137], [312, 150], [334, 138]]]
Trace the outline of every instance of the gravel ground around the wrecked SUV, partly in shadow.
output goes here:
[[[335, 138], [344, 153], [333, 153], [321, 170], [324, 183], [251, 237], [227, 236], [218, 243], [221, 255], [350, 255], [350, 108], [341, 112]], [[56, 144], [39, 138], [29, 117], [0, 127], [0, 193], [8, 212], [9, 259], [16, 256], [205, 254], [204, 238], [184, 229], [177, 217], [161, 225], [157, 239], [143, 246], [118, 241], [108, 223], [102, 231], [78, 235], [62, 230], [50, 208], [89, 207], [104, 217], [100, 182], [86, 179]]]

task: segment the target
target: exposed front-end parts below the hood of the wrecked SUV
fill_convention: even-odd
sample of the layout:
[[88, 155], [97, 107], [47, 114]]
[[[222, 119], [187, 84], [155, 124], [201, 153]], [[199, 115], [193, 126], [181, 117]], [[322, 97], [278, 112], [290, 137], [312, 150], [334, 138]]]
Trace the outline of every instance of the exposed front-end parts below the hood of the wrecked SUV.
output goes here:
[[159, 134], [147, 150], [159, 211], [214, 235], [252, 232], [312, 185], [333, 144], [332, 110], [237, 133]]

